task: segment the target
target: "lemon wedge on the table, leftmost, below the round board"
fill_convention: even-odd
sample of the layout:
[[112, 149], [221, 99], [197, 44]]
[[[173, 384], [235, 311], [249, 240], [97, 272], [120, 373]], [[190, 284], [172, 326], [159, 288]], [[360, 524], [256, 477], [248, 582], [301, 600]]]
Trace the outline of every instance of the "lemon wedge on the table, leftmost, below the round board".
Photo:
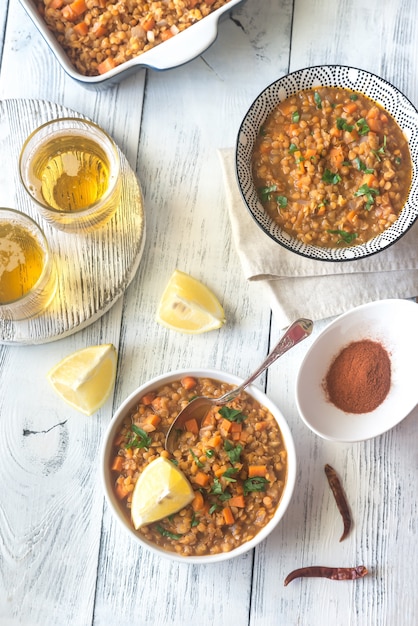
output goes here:
[[92, 415], [108, 399], [116, 378], [117, 354], [113, 344], [90, 346], [68, 355], [47, 378], [72, 407]]

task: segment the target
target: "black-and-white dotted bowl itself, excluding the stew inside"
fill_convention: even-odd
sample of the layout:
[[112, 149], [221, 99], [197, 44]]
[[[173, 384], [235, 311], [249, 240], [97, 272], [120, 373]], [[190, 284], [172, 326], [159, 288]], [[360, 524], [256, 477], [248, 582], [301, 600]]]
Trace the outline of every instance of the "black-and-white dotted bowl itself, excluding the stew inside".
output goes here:
[[[396, 222], [365, 244], [346, 248], [322, 248], [292, 238], [264, 210], [254, 186], [251, 157], [259, 129], [279, 102], [314, 87], [342, 87], [368, 96], [380, 104], [399, 124], [409, 143], [412, 183], [407, 202]], [[287, 74], [266, 87], [246, 113], [236, 144], [236, 175], [242, 197], [258, 226], [281, 246], [320, 261], [354, 261], [388, 248], [414, 224], [418, 217], [418, 111], [396, 87], [361, 69], [341, 65], [319, 65]]]

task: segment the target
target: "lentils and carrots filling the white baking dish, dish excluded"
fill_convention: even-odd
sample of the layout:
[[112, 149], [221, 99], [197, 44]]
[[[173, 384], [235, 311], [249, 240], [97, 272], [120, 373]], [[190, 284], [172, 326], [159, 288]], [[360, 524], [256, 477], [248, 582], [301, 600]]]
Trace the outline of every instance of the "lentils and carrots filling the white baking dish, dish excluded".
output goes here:
[[229, 0], [36, 0], [74, 67], [97, 76], [193, 26]]

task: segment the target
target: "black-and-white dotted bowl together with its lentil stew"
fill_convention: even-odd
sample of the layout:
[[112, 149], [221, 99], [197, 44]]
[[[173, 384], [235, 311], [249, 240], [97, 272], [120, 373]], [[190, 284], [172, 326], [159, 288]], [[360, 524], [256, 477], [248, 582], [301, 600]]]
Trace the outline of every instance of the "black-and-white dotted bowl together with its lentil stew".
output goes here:
[[255, 223], [322, 261], [385, 250], [418, 217], [418, 111], [386, 80], [352, 67], [305, 68], [246, 113], [236, 175]]

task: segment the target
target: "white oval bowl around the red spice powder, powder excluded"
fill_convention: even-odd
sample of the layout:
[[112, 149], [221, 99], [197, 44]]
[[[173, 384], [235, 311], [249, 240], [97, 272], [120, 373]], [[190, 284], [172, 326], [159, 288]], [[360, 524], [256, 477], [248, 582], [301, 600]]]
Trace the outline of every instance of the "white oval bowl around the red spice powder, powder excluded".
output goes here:
[[[418, 304], [379, 300], [344, 313], [310, 346], [296, 382], [296, 403], [305, 424], [331, 441], [371, 439], [401, 422], [418, 404], [414, 360], [418, 354]], [[327, 400], [323, 381], [339, 352], [353, 341], [380, 343], [391, 360], [391, 386], [383, 403], [370, 413], [341, 411]]]

